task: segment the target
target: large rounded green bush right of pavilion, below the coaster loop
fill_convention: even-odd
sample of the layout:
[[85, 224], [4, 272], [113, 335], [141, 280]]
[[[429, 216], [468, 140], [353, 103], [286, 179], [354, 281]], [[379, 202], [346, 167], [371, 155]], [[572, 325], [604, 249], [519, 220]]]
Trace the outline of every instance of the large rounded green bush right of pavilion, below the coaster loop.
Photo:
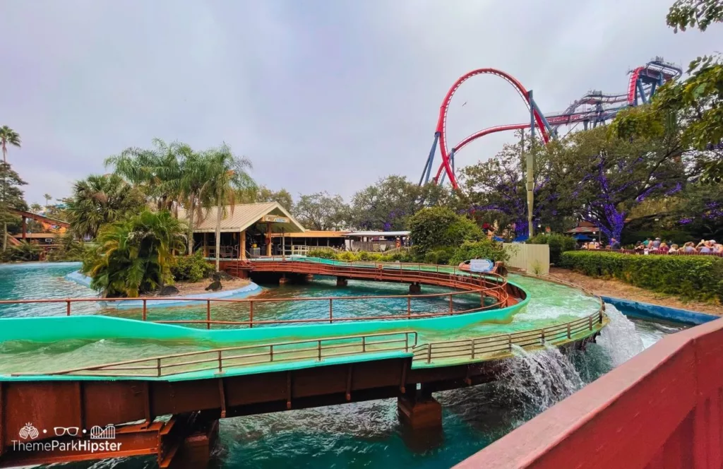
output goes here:
[[464, 241], [484, 237], [474, 221], [447, 207], [423, 208], [409, 218], [408, 227], [419, 255], [438, 248], [456, 248]]

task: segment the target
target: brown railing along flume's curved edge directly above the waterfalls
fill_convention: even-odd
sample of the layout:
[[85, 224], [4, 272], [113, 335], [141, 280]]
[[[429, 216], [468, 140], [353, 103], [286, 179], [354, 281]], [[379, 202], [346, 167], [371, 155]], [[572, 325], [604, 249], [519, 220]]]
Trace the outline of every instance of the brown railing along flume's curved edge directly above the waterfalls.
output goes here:
[[604, 323], [603, 309], [586, 318], [576, 319], [565, 324], [544, 327], [513, 334], [497, 334], [446, 342], [433, 342], [414, 347], [414, 361], [432, 363], [434, 360], [462, 358], [469, 360], [501, 358], [513, 352], [513, 345], [522, 348], [542, 347], [545, 343], [556, 345], [569, 342], [578, 334], [589, 335], [602, 328]]

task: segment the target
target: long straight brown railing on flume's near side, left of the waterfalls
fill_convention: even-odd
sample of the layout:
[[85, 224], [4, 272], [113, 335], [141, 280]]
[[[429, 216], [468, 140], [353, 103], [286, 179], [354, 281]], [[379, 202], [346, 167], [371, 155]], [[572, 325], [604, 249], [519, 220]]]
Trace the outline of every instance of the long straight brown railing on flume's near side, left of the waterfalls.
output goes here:
[[416, 331], [387, 332], [324, 339], [277, 342], [262, 345], [242, 345], [198, 352], [184, 352], [152, 358], [138, 358], [97, 366], [70, 368], [48, 373], [12, 373], [12, 376], [82, 375], [82, 376], [171, 376], [180, 373], [215, 370], [223, 373], [230, 368], [270, 365], [290, 361], [322, 361], [325, 358], [346, 357], [381, 352], [408, 353], [416, 345]]

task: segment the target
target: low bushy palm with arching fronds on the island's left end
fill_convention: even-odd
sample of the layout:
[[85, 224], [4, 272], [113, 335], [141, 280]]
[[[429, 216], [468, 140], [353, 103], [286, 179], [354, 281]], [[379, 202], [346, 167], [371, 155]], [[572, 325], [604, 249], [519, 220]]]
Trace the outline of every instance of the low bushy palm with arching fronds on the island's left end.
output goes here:
[[99, 247], [83, 262], [90, 286], [106, 297], [137, 297], [173, 282], [173, 250], [186, 247], [185, 224], [171, 212], [142, 211], [106, 224], [98, 232]]

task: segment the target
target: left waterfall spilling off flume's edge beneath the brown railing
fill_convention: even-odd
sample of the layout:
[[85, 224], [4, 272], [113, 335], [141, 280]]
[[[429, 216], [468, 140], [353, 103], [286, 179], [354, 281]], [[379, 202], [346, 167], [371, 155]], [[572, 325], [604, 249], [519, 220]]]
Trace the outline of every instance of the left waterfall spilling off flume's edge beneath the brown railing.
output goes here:
[[501, 392], [523, 402], [526, 413], [535, 415], [581, 389], [583, 380], [560, 350], [526, 352], [513, 345], [514, 358], [507, 360], [498, 381]]

